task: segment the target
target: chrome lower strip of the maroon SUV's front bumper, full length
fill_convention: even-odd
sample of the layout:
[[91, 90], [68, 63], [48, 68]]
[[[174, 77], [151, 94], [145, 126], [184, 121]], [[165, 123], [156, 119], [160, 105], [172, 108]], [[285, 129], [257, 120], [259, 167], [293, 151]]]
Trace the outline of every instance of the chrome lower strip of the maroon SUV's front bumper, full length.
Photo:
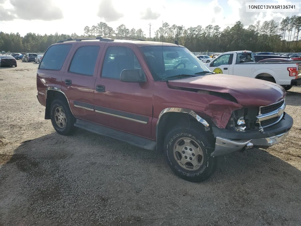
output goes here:
[[231, 140], [223, 137], [216, 137], [215, 149], [211, 156], [225, 155], [232, 152], [237, 152], [241, 149], [268, 148], [282, 142], [287, 137], [289, 131], [278, 134], [273, 137], [265, 137], [251, 140]]

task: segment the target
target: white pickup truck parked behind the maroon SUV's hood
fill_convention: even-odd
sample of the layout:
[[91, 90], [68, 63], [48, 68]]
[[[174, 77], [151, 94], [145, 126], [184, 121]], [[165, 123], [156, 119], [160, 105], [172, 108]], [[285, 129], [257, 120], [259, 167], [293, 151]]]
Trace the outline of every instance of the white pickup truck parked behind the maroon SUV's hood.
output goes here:
[[301, 85], [301, 61], [255, 62], [251, 51], [233, 51], [222, 53], [205, 65], [217, 74], [262, 79], [285, 90]]

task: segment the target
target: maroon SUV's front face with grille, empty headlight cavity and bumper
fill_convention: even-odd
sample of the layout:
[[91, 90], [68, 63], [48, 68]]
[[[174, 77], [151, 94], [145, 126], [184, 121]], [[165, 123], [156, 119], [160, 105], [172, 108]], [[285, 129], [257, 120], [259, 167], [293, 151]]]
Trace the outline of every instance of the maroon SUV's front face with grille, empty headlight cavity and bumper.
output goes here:
[[259, 108], [234, 110], [225, 129], [213, 126], [216, 143], [211, 156], [252, 147], [266, 149], [282, 142], [293, 125], [293, 119], [284, 109], [285, 99]]

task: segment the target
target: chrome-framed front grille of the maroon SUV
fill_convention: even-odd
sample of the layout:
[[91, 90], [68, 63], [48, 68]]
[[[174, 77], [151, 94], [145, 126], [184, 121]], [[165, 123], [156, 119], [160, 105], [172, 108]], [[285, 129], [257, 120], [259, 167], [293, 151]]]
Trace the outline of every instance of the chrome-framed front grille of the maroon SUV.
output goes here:
[[265, 128], [280, 122], [284, 116], [285, 100], [278, 101], [268, 106], [259, 108], [259, 115], [257, 115], [257, 123], [259, 128]]

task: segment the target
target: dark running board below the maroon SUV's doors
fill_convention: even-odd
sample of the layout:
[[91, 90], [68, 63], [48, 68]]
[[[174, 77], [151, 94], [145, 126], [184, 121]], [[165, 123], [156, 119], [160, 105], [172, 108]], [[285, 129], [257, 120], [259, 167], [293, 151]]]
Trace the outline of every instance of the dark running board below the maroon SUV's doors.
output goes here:
[[122, 132], [119, 130], [114, 130], [112, 128], [101, 126], [101, 125], [98, 125], [98, 124], [95, 124], [92, 122], [88, 122], [88, 121], [84, 121], [81, 119], [77, 119], [74, 126], [84, 129], [84, 130], [88, 130], [92, 133], [97, 133], [99, 135], [103, 135], [103, 136], [111, 137], [111, 138], [114, 138], [117, 140], [121, 140], [126, 143], [129, 143], [134, 146], [144, 148], [147, 150], [155, 150], [155, 148], [156, 148], [155, 141], [148, 140], [143, 137], [138, 137], [136, 135]]

